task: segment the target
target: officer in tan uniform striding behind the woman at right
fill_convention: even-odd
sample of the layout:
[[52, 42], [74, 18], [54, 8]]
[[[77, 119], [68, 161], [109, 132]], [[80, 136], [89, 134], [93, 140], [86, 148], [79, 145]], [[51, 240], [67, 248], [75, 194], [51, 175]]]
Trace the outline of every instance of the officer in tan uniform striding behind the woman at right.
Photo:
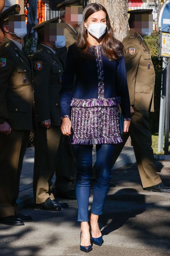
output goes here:
[[[155, 72], [150, 48], [143, 37], [150, 35], [153, 31], [152, 11], [140, 9], [128, 12], [130, 13], [130, 30], [122, 42], [126, 48], [125, 64], [132, 121], [129, 133], [124, 135], [124, 143], [117, 145], [118, 150], [114, 163], [130, 135], [143, 188], [146, 188], [147, 191], [170, 192], [170, 188], [162, 183], [160, 176], [156, 173], [151, 147], [152, 137], [148, 112], [154, 111]], [[145, 17], [142, 18], [142, 15]], [[142, 25], [142, 19], [145, 20], [144, 25]], [[148, 28], [146, 28], [147, 20]], [[136, 21], [137, 25], [135, 25]]]

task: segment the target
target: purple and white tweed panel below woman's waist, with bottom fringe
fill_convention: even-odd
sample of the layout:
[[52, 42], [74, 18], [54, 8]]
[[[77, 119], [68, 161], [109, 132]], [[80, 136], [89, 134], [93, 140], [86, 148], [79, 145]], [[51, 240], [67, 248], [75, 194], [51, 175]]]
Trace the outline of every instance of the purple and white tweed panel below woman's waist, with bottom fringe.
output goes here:
[[118, 105], [72, 106], [70, 143], [75, 145], [121, 143], [123, 140], [119, 133], [118, 121]]

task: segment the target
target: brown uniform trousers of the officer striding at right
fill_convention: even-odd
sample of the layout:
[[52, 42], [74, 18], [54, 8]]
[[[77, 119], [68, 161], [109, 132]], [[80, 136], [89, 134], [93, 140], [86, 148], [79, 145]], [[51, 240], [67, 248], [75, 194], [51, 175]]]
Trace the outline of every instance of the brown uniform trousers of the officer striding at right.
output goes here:
[[154, 186], [162, 182], [160, 176], [156, 174], [152, 150], [152, 133], [149, 124], [149, 113], [147, 111], [137, 111], [134, 108], [129, 132], [124, 135], [123, 143], [116, 145], [117, 150], [114, 156], [114, 163], [129, 136], [131, 136], [143, 188]]

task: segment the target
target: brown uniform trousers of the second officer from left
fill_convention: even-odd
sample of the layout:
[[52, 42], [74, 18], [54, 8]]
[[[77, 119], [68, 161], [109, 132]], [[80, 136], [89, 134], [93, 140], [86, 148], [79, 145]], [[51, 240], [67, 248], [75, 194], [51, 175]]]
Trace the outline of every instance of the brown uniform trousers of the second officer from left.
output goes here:
[[58, 167], [59, 143], [61, 138], [60, 126], [50, 129], [38, 126], [34, 132], [35, 157], [33, 191], [36, 204], [44, 203], [47, 198], [54, 199], [52, 194], [52, 177]]

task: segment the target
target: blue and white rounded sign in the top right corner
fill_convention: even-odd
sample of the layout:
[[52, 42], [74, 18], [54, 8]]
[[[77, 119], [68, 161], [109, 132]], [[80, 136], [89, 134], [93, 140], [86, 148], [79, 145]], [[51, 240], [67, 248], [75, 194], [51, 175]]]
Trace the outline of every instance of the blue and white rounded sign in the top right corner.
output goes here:
[[[170, 29], [170, 0], [166, 1], [160, 10], [159, 14], [159, 27], [164, 32], [169, 32]], [[169, 26], [168, 26], [169, 25]]]

